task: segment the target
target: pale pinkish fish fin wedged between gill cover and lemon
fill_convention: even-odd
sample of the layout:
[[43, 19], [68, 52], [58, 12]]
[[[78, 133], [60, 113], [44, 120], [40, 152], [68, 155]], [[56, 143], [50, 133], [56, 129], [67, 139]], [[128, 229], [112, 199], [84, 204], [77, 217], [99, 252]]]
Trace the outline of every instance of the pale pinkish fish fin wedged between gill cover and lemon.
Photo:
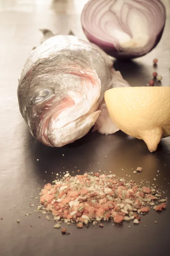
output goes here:
[[102, 103], [99, 105], [99, 108], [97, 110], [100, 110], [101, 113], [94, 125], [93, 131], [98, 131], [101, 134], [113, 134], [116, 131], [119, 131], [120, 129], [114, 124], [111, 117], [109, 116], [105, 100], [102, 101]]

